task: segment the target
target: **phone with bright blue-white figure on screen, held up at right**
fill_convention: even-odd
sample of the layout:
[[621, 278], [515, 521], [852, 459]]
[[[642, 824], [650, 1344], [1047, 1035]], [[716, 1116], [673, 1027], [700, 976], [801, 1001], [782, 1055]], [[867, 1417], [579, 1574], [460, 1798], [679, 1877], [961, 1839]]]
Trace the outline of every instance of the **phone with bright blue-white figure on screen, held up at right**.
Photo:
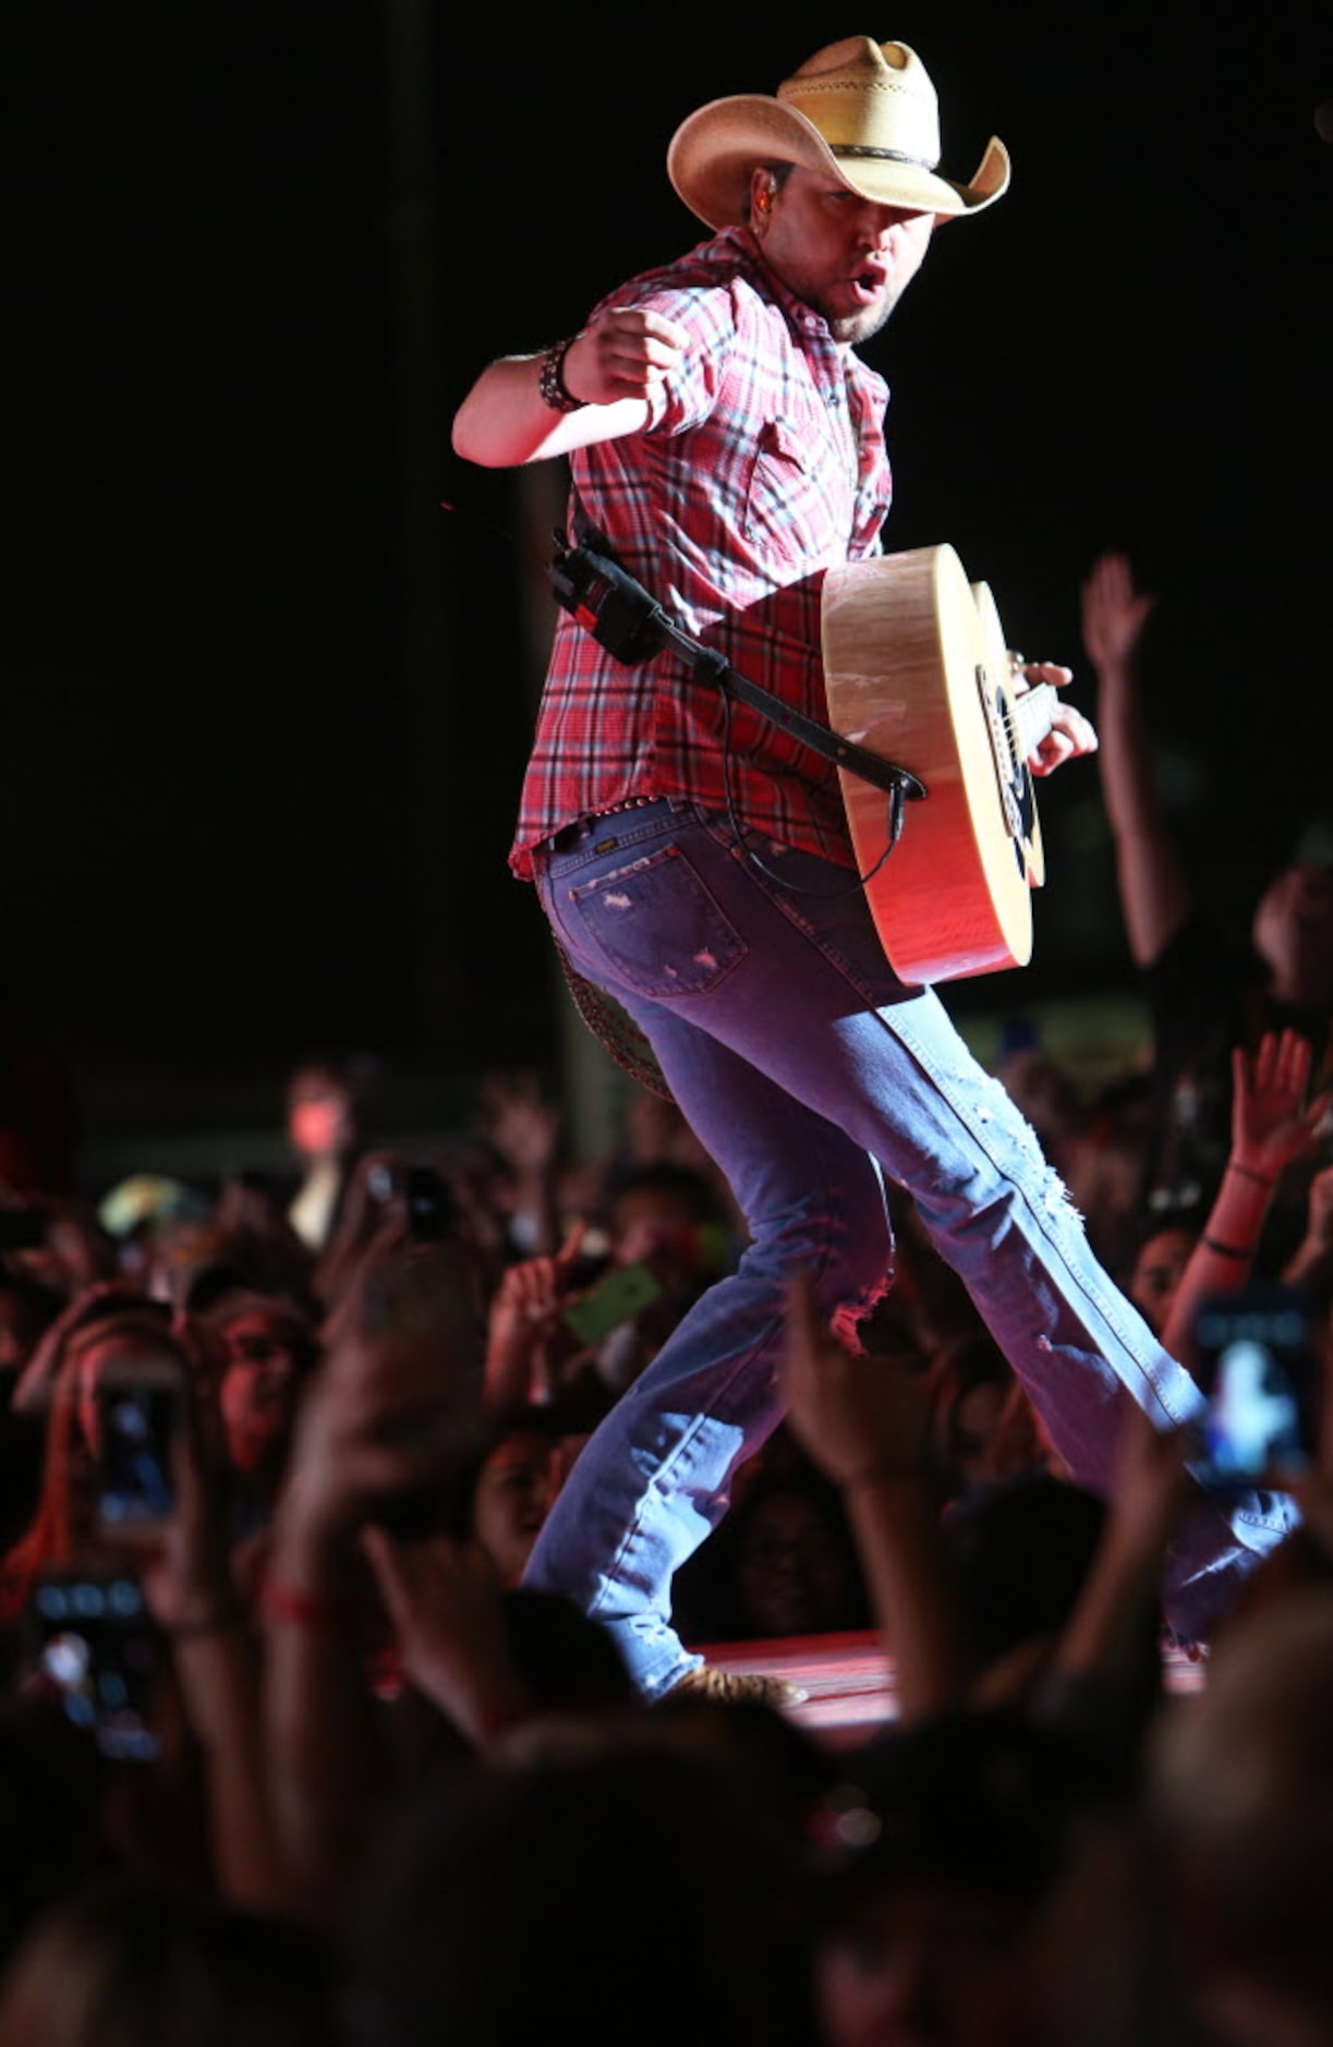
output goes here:
[[1315, 1361], [1300, 1296], [1245, 1288], [1204, 1302], [1196, 1341], [1208, 1392], [1196, 1476], [1224, 1490], [1304, 1472], [1315, 1439]]

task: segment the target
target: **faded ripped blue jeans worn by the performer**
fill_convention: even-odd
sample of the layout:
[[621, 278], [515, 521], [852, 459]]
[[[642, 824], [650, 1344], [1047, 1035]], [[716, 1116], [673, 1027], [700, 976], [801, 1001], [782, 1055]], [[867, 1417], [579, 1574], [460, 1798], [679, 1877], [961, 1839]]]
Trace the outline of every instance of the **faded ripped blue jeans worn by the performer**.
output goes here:
[[[1106, 1490], [1126, 1398], [1163, 1427], [1200, 1402], [1005, 1091], [936, 995], [891, 972], [856, 878], [747, 843], [768, 872], [727, 819], [663, 798], [539, 856], [559, 944], [649, 1036], [751, 1234], [582, 1449], [528, 1566], [612, 1629], [647, 1697], [698, 1662], [672, 1627], [672, 1576], [782, 1417], [788, 1271], [811, 1269], [829, 1316], [883, 1290], [880, 1173], [911, 1193], [1079, 1484]], [[1272, 1494], [1227, 1515], [1200, 1498], [1163, 1588], [1175, 1629], [1202, 1634], [1290, 1525]]]

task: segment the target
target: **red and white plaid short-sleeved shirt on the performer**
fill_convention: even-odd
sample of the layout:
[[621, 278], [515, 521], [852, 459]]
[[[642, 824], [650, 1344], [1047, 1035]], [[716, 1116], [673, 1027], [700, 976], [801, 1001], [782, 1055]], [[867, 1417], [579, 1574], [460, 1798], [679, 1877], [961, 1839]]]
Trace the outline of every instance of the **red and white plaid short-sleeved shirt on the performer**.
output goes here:
[[[694, 639], [827, 723], [823, 571], [878, 553], [889, 512], [889, 387], [727, 227], [606, 305], [651, 305], [690, 334], [643, 432], [571, 456], [586, 516]], [[510, 864], [631, 796], [727, 809], [784, 845], [852, 864], [837, 770], [723, 700], [663, 649], [625, 667], [559, 614]]]

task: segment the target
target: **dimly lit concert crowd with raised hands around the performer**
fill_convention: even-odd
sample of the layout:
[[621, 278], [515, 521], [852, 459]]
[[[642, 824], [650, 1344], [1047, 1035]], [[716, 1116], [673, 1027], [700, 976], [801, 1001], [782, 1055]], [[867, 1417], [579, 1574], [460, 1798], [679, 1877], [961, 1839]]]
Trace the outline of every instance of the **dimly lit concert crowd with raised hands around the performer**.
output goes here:
[[[1110, 778], [1134, 610], [1102, 563]], [[1327, 2037], [1325, 991], [1278, 981], [1315, 888], [1267, 892], [1247, 999], [1171, 1075], [1151, 1038], [1095, 1099], [999, 1069], [1071, 1187], [1122, 1189], [1087, 1228], [1200, 1384], [1218, 1298], [1300, 1310], [1308, 1455], [1265, 1472], [1300, 1527], [1181, 1695], [1161, 1580], [1202, 1433], [1132, 1414], [1114, 1484], [1071, 1482], [901, 1193], [856, 1337], [792, 1277], [786, 1419], [676, 1582], [704, 1654], [876, 1634], [893, 1719], [848, 1742], [745, 1685], [649, 1701], [524, 1584], [590, 1433], [745, 1249], [670, 1099], [633, 1089], [577, 1161], [555, 1093], [491, 1075], [407, 1152], [330, 1060], [291, 1077], [289, 1177], [70, 1193], [10, 1144], [0, 2047], [651, 2041], [684, 2010], [799, 2047]], [[1202, 927], [1175, 901], [1145, 989]], [[1218, 1044], [1165, 1200], [1163, 1116]]]

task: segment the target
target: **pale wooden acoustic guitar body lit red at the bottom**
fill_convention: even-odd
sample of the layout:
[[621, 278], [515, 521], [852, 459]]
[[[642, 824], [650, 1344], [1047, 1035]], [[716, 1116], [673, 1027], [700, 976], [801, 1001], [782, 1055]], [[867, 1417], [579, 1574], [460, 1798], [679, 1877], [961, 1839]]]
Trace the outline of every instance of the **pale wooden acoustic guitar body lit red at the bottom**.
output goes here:
[[[833, 731], [926, 784], [866, 882], [893, 970], [932, 983], [1026, 966], [1044, 868], [1024, 761], [1050, 718], [1038, 692], [1016, 708], [989, 587], [969, 583], [952, 547], [848, 563], [825, 575], [821, 633]], [[870, 876], [889, 845], [889, 802], [854, 774], [840, 780]]]

